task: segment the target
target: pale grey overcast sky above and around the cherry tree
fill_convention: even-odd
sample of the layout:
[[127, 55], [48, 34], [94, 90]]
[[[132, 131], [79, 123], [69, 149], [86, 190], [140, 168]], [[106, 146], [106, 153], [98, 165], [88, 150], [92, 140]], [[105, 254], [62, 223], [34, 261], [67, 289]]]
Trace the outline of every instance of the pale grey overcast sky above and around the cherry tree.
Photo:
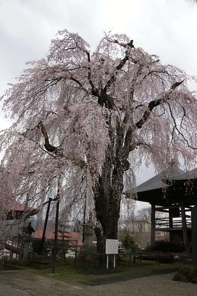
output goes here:
[[[51, 39], [65, 28], [78, 32], [92, 49], [103, 31], [113, 29], [133, 39], [135, 47], [159, 55], [162, 63], [197, 76], [197, 8], [184, 0], [0, 0], [0, 96], [25, 61], [43, 58]], [[2, 115], [0, 124], [7, 126]], [[152, 167], [143, 168], [137, 184], [153, 176]]]

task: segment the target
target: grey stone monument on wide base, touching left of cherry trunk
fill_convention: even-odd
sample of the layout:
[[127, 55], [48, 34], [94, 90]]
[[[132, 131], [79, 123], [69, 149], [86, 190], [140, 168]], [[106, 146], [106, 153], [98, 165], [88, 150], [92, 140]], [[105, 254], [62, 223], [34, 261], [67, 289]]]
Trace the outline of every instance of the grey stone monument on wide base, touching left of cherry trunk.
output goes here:
[[94, 224], [88, 222], [82, 224], [82, 226], [85, 227], [85, 241], [83, 245], [80, 247], [80, 251], [76, 258], [76, 266], [88, 268], [90, 266], [96, 266], [99, 264], [99, 256], [96, 256], [96, 254], [99, 253], [97, 253], [95, 245], [92, 243], [92, 236], [94, 234]]

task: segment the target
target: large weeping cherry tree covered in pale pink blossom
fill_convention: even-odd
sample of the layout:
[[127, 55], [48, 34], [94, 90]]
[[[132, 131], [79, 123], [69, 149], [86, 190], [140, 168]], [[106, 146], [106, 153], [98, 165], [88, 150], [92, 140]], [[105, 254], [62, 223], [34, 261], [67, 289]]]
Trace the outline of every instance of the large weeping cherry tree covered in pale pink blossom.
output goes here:
[[27, 65], [2, 96], [11, 126], [0, 138], [1, 188], [10, 203], [28, 192], [39, 211], [57, 196], [62, 217], [85, 206], [103, 252], [117, 238], [121, 204], [134, 208], [122, 192], [135, 187], [142, 160], [158, 172], [195, 160], [197, 102], [187, 81], [196, 79], [111, 32], [91, 52], [78, 34], [59, 31], [46, 58]]

